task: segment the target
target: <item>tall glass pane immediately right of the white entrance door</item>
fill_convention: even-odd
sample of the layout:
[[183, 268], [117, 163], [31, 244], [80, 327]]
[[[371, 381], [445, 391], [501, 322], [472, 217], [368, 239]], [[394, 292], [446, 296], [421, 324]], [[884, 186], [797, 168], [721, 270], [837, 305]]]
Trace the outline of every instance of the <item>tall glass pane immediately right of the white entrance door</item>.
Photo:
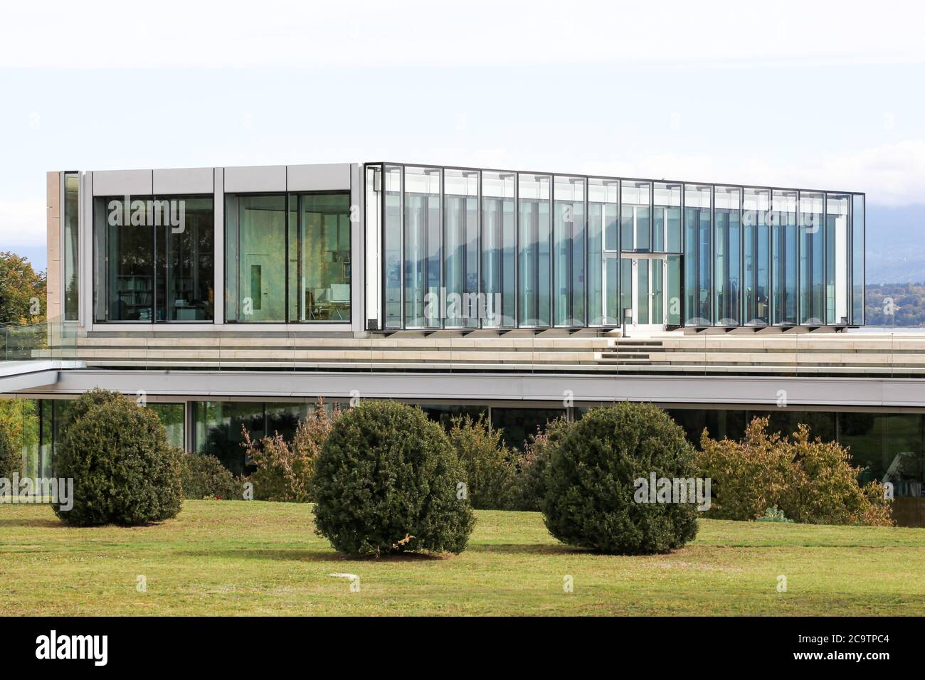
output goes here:
[[685, 184], [685, 326], [712, 325], [712, 188]]

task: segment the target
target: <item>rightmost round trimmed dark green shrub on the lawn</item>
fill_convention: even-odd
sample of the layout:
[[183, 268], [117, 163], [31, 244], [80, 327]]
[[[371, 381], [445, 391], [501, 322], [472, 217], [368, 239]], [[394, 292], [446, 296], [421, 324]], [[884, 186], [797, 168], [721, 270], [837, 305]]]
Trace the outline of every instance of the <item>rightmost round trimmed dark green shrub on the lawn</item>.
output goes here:
[[548, 456], [543, 517], [563, 543], [649, 554], [697, 536], [696, 503], [637, 502], [636, 479], [697, 477], [684, 430], [660, 408], [592, 409], [549, 441]]

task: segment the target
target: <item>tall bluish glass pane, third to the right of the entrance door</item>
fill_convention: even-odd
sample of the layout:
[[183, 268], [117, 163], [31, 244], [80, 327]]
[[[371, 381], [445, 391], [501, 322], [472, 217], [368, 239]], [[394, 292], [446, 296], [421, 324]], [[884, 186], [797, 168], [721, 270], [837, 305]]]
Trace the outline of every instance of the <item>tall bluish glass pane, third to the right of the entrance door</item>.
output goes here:
[[743, 290], [746, 326], [771, 324], [771, 230], [768, 216], [771, 190], [746, 187], [742, 200]]

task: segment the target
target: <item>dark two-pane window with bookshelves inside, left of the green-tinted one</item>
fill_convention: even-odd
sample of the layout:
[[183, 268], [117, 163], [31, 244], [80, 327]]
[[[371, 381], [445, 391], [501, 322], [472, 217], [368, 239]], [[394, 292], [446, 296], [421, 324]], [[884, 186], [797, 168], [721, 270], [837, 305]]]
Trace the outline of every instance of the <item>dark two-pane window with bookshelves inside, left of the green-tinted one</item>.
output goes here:
[[93, 223], [97, 322], [212, 321], [211, 196], [97, 197]]

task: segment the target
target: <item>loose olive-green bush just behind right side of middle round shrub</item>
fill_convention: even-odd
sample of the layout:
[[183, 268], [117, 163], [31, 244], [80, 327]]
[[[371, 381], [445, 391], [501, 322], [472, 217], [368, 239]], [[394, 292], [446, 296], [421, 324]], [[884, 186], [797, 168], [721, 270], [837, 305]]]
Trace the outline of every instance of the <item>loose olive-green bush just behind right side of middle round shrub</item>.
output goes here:
[[516, 467], [501, 431], [485, 415], [452, 419], [450, 442], [465, 470], [469, 502], [476, 510], [507, 510], [511, 506]]

